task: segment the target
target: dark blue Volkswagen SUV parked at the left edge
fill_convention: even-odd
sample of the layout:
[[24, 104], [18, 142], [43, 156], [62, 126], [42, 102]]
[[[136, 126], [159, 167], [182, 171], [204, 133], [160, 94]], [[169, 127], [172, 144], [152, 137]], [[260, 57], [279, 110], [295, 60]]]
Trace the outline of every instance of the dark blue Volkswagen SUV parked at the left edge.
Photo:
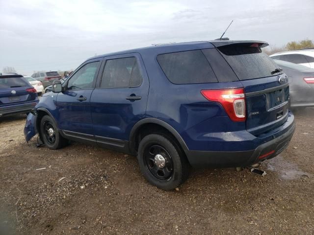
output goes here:
[[17, 74], [0, 75], [0, 117], [27, 114], [38, 102], [35, 88]]

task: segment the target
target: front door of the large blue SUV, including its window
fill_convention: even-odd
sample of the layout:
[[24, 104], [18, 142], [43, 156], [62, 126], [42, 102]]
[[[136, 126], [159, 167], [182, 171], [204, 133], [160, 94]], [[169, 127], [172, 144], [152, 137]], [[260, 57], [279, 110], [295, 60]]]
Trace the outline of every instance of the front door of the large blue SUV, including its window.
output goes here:
[[65, 91], [57, 96], [58, 126], [67, 135], [93, 135], [90, 97], [100, 64], [100, 60], [83, 64], [65, 82]]

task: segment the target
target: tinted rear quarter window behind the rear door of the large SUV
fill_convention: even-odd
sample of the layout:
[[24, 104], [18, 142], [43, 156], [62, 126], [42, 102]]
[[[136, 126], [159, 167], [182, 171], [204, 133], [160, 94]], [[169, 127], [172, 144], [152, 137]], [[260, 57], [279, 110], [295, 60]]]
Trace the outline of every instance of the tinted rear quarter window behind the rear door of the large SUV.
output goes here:
[[167, 78], [174, 84], [218, 82], [201, 50], [160, 54], [157, 61]]

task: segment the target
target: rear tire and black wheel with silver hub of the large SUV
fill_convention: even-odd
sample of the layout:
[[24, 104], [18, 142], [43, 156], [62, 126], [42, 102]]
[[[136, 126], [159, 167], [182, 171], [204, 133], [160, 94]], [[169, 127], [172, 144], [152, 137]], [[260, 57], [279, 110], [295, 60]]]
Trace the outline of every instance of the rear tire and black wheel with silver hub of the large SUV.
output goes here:
[[[188, 178], [185, 156], [166, 137], [150, 134], [138, 147], [138, 164], [145, 179], [164, 190], [177, 188]], [[160, 157], [161, 155], [161, 157]]]

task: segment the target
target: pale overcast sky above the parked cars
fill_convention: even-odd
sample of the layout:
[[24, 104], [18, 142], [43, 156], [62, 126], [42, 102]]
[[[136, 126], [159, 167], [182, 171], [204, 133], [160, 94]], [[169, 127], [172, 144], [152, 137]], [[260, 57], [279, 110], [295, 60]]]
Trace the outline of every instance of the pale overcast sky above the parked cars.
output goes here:
[[151, 44], [314, 40], [314, 0], [0, 0], [0, 71], [75, 69], [95, 54]]

